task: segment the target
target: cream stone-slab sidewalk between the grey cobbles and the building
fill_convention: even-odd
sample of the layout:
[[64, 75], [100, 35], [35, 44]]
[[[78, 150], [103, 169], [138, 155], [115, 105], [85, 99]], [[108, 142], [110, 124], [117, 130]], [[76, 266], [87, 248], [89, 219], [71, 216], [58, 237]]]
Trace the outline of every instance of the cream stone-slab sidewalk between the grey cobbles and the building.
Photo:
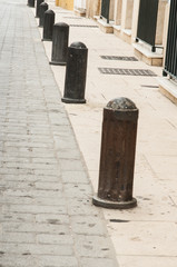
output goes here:
[[[101, 59], [100, 56], [134, 56], [132, 47], [112, 34], [102, 33], [98, 28], [79, 27], [96, 26], [96, 22], [55, 7], [53, 1], [48, 3], [56, 12], [56, 22], [70, 24], [69, 43], [81, 41], [89, 49], [87, 103], [65, 106], [95, 192], [98, 188], [102, 108], [112, 98], [128, 97], [139, 109], [134, 190], [138, 207], [124, 211], [104, 209], [119, 266], [175, 267], [177, 108], [158, 90], [163, 68], [149, 67], [140, 61]], [[50, 60], [51, 43], [43, 44]], [[158, 77], [101, 75], [99, 67], [149, 69]], [[65, 67], [51, 68], [62, 96]]]

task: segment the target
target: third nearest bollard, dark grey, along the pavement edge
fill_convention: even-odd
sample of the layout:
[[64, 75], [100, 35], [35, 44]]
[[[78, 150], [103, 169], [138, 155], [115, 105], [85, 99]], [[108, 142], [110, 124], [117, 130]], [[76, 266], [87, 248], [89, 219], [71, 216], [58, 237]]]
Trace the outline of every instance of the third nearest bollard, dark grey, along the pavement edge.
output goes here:
[[69, 26], [63, 22], [53, 26], [51, 65], [66, 65], [68, 55]]

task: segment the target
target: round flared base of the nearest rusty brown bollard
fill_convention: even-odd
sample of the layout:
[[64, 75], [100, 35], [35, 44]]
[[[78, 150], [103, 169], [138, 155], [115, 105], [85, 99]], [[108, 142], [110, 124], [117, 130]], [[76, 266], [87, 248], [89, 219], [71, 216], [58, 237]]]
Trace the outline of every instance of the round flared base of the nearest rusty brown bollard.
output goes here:
[[137, 206], [137, 199], [132, 198], [131, 201], [122, 201], [122, 202], [116, 202], [116, 201], [109, 201], [104, 200], [97, 196], [92, 198], [92, 204], [98, 207], [102, 208], [109, 208], [109, 209], [129, 209], [135, 208]]

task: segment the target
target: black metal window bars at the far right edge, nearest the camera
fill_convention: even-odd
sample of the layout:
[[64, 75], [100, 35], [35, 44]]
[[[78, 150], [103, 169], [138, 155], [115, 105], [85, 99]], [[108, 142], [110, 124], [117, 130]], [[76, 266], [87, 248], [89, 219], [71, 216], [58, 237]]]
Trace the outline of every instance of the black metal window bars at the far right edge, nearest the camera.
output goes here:
[[170, 0], [170, 12], [168, 23], [168, 38], [166, 49], [165, 69], [166, 73], [177, 79], [177, 1]]

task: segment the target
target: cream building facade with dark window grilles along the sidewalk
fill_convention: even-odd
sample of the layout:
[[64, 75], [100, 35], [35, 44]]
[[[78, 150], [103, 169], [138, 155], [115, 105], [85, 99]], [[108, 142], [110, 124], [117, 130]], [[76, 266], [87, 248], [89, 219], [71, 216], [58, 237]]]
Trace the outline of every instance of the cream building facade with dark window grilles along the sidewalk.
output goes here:
[[177, 102], [176, 0], [58, 1], [60, 7], [75, 7], [75, 11], [80, 16], [86, 14], [97, 20], [105, 33], [112, 33], [134, 46], [139, 60], [150, 66], [163, 67], [160, 90], [167, 96], [173, 93], [168, 97]]

